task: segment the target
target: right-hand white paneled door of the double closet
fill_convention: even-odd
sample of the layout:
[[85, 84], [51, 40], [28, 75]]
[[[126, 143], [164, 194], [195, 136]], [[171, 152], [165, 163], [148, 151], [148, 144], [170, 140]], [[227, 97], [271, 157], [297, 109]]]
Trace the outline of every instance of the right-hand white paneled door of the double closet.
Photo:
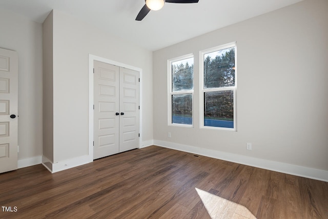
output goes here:
[[119, 152], [139, 147], [139, 72], [120, 68]]

